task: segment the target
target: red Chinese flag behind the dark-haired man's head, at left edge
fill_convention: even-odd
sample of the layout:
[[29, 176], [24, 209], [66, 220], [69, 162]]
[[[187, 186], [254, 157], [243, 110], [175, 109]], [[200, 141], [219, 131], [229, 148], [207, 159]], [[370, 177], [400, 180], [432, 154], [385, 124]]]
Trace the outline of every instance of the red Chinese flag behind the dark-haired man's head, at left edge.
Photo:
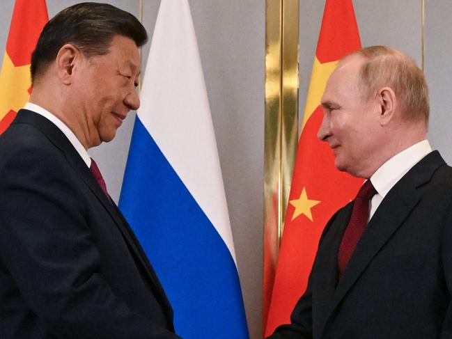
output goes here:
[[0, 134], [31, 93], [31, 53], [49, 21], [45, 0], [16, 0], [0, 72]]

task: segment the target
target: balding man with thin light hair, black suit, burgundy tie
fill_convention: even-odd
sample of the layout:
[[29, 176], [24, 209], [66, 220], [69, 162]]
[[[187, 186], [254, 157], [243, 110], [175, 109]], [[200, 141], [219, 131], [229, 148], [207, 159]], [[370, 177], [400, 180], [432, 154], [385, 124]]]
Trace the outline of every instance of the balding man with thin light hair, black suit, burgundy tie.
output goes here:
[[396, 49], [364, 48], [338, 63], [321, 104], [318, 137], [366, 182], [269, 338], [452, 338], [452, 168], [426, 140], [423, 73]]

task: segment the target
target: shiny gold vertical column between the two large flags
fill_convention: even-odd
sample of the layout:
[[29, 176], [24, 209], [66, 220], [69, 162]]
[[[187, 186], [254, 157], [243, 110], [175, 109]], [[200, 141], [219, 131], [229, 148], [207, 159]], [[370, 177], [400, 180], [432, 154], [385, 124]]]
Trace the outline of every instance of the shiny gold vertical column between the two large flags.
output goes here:
[[297, 149], [299, 0], [267, 0], [265, 24], [264, 324]]

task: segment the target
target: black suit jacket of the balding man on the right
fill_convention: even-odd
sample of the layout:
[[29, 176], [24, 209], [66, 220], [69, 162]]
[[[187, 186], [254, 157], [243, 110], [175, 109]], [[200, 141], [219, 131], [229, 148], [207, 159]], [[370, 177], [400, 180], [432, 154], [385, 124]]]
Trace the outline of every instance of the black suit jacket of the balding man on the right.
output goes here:
[[435, 151], [400, 179], [338, 279], [351, 211], [327, 224], [292, 323], [270, 338], [452, 338], [452, 168]]

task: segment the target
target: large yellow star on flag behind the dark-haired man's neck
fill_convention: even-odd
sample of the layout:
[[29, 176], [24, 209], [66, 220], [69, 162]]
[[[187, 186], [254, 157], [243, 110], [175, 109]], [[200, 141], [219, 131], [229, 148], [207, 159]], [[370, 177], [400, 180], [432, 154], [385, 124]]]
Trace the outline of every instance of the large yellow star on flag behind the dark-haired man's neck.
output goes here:
[[15, 67], [8, 53], [3, 57], [0, 72], [0, 120], [12, 109], [19, 111], [29, 100], [30, 65]]

